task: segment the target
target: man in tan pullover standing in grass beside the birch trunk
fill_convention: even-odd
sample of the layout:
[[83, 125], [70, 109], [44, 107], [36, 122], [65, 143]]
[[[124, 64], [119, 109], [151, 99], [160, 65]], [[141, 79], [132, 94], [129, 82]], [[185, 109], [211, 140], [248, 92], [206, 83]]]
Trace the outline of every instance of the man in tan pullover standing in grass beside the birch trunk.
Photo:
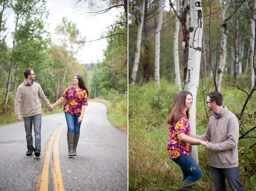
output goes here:
[[[213, 111], [206, 133], [198, 136], [207, 141], [210, 150], [210, 167], [217, 191], [226, 191], [226, 179], [233, 191], [242, 191], [238, 169], [238, 136], [239, 123], [236, 116], [222, 106], [222, 95], [219, 92], [208, 93], [206, 106]], [[210, 143], [209, 143], [210, 142]]]

